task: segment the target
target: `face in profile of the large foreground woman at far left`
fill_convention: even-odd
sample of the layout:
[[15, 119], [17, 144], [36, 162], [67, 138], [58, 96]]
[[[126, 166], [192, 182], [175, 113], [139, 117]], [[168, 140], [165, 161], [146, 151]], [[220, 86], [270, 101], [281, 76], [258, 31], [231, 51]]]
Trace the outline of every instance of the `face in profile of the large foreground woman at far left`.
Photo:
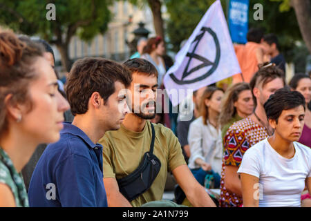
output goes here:
[[48, 61], [39, 57], [33, 68], [39, 76], [28, 87], [32, 108], [28, 111], [28, 107], [23, 106], [19, 124], [38, 143], [57, 142], [69, 104], [57, 90], [57, 78]]

